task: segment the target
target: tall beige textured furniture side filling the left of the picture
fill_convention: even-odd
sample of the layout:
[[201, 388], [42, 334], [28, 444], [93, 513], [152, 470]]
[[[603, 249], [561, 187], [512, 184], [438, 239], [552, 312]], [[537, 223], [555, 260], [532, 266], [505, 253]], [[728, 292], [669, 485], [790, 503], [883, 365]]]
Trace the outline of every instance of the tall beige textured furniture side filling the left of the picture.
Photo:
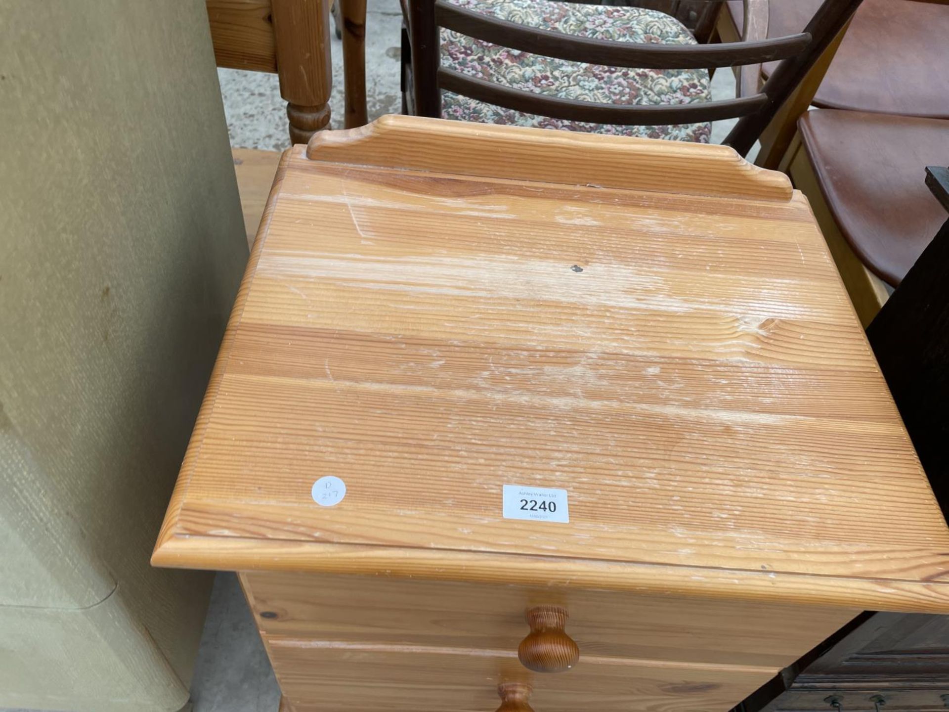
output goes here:
[[0, 67], [0, 707], [177, 709], [210, 577], [148, 555], [247, 260], [206, 9], [11, 0]]

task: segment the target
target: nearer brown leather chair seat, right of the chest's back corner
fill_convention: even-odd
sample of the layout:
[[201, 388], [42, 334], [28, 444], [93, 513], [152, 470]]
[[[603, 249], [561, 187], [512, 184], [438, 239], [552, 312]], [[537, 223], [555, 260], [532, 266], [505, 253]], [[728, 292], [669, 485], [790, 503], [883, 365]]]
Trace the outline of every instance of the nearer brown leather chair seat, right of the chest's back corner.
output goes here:
[[949, 121], [828, 109], [798, 128], [853, 252], [898, 286], [946, 219], [924, 178], [927, 165], [949, 165]]

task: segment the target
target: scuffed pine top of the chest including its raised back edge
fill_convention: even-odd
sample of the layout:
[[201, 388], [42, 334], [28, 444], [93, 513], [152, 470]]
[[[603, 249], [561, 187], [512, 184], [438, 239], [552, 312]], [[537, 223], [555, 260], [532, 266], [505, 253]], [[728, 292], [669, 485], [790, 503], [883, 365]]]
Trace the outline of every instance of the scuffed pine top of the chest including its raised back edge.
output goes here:
[[[156, 563], [949, 610], [945, 522], [787, 178], [334, 133], [285, 158]], [[566, 489], [569, 522], [502, 518], [503, 484]]]

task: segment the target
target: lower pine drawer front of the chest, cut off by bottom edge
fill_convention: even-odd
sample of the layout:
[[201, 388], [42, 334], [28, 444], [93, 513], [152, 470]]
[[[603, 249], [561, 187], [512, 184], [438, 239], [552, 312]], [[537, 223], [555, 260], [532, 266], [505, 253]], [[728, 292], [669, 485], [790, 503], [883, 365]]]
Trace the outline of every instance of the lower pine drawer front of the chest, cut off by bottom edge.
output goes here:
[[501, 651], [321, 644], [270, 638], [270, 659], [294, 712], [493, 712], [497, 684], [530, 684], [536, 712], [725, 712], [767, 681], [726, 665], [590, 663], [531, 675]]

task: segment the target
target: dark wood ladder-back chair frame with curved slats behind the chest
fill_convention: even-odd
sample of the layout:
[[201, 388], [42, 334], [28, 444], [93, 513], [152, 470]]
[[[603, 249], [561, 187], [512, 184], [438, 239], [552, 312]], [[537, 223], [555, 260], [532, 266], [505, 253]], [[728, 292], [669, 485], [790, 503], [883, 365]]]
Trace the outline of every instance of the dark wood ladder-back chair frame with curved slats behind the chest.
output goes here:
[[[793, 2], [793, 0], [790, 0]], [[803, 32], [768, 39], [768, 0], [744, 0], [742, 42], [716, 45], [660, 45], [615, 42], [529, 28], [458, 7], [450, 0], [408, 0], [413, 113], [441, 115], [441, 90], [477, 101], [553, 119], [619, 125], [712, 122], [739, 118], [724, 141], [742, 156], [771, 122], [778, 108], [847, 25], [862, 0], [824, 0]], [[469, 77], [440, 66], [440, 28], [474, 39], [546, 57], [591, 65], [640, 69], [698, 69], [747, 66], [735, 99], [687, 104], [625, 105], [582, 102], [543, 96]], [[781, 64], [760, 90], [757, 78], [765, 62]], [[754, 83], [754, 84], [753, 84]]]

